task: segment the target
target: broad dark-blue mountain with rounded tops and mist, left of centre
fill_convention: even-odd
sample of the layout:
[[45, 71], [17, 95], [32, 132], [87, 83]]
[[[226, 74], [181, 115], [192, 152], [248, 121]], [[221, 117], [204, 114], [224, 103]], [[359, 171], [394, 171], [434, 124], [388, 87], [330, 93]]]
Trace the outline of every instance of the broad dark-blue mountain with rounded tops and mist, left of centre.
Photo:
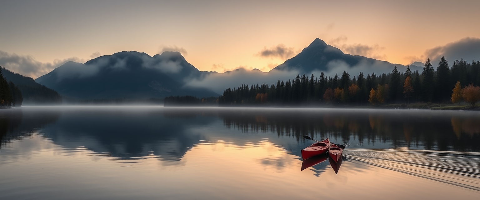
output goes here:
[[35, 81], [74, 99], [145, 99], [170, 95], [218, 96], [208, 89], [186, 87], [202, 72], [179, 52], [153, 57], [122, 51], [82, 63], [67, 62]]

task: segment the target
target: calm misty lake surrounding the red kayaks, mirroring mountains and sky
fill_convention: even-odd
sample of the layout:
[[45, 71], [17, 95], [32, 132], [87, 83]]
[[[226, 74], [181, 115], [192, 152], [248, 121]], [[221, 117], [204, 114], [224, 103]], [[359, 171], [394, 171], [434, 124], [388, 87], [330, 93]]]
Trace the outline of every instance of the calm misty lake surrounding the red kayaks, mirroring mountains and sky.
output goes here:
[[0, 140], [1, 200], [480, 199], [474, 111], [25, 106]]

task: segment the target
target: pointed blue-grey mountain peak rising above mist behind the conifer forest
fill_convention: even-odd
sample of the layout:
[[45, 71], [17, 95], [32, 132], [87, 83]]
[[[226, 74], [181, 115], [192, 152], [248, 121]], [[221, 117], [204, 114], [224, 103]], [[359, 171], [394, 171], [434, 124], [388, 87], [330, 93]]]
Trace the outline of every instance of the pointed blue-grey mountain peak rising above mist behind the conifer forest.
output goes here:
[[[348, 68], [373, 66], [392, 71], [394, 66], [403, 65], [392, 64], [387, 61], [371, 59], [364, 56], [352, 56], [350, 54], [345, 54], [342, 50], [327, 45], [323, 40], [316, 38], [297, 56], [288, 59], [283, 64], [276, 66], [273, 70], [296, 70], [301, 74], [309, 74], [312, 73], [312, 71], [335, 70], [334, 68], [337, 66], [347, 66]], [[338, 71], [336, 73], [341, 73], [342, 71]]]

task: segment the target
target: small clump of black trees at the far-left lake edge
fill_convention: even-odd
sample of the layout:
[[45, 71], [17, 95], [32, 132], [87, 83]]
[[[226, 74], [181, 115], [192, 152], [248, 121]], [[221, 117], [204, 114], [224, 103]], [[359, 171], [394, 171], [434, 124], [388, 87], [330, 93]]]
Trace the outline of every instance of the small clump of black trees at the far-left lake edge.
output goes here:
[[0, 68], [0, 106], [22, 106], [22, 92], [13, 82], [7, 82]]

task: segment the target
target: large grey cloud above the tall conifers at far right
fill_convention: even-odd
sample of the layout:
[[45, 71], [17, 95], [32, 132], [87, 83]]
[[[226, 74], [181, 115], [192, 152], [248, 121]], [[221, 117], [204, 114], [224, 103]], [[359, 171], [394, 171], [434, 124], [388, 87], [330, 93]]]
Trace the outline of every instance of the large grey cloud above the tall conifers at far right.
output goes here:
[[[444, 46], [438, 46], [431, 49], [427, 49], [423, 55], [423, 59], [430, 58], [432, 63], [438, 63], [442, 56], [447, 59], [450, 65], [456, 59], [463, 58], [467, 62], [471, 62], [473, 59], [480, 59], [480, 38], [476, 37], [464, 37], [458, 41], [448, 43]], [[420, 61], [424, 61], [424, 60]], [[419, 61], [419, 60], [415, 60]]]

